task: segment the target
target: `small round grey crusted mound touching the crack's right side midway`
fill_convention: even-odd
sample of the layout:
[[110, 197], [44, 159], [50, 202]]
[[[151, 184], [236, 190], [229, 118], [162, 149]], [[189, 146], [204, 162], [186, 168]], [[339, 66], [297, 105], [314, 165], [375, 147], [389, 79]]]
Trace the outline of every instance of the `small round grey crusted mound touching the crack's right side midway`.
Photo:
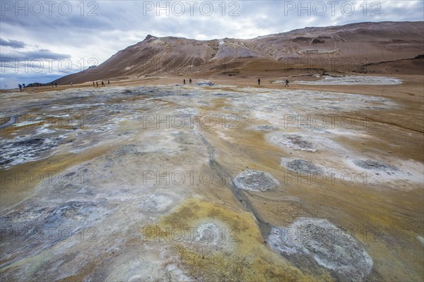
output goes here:
[[246, 170], [232, 180], [237, 189], [253, 192], [270, 192], [280, 184], [271, 174], [264, 171]]

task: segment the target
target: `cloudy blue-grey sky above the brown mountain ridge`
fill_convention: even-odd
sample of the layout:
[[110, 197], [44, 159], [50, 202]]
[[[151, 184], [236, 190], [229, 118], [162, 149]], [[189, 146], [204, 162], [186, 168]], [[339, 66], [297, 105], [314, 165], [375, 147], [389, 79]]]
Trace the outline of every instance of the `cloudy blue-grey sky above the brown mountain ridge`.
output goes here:
[[252, 38], [303, 27], [424, 20], [424, 1], [0, 1], [0, 88], [98, 65], [146, 35]]

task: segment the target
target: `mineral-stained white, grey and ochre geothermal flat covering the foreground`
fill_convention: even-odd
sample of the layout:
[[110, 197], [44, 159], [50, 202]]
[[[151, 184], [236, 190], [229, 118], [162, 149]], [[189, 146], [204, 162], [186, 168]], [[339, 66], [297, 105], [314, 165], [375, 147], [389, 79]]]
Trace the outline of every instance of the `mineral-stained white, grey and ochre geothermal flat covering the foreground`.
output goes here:
[[1, 280], [422, 281], [422, 88], [275, 85], [1, 93]]

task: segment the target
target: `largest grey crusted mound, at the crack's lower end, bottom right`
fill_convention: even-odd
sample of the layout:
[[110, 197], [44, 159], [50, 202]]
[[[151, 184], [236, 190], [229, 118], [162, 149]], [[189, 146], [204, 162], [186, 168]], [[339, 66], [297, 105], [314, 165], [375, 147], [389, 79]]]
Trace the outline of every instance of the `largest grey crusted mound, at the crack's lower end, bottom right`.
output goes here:
[[273, 227], [269, 246], [283, 256], [300, 255], [334, 271], [341, 281], [363, 281], [372, 258], [363, 246], [326, 219], [300, 218], [288, 228]]

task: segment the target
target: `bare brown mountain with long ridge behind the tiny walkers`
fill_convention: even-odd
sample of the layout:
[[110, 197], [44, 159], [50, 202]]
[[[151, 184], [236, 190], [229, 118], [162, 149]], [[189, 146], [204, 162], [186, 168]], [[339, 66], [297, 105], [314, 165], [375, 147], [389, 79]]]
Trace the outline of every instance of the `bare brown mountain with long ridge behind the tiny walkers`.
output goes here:
[[[403, 68], [408, 69], [411, 63], [413, 70], [418, 70], [416, 74], [421, 74], [423, 59], [413, 58], [424, 54], [423, 38], [424, 22], [305, 27], [253, 39], [202, 41], [148, 35], [142, 42], [118, 51], [99, 66], [54, 82], [81, 83], [185, 73], [192, 73], [193, 77], [243, 75], [305, 69], [378, 73], [378, 66], [396, 68], [399, 60], [404, 60], [400, 62]], [[418, 65], [417, 60], [420, 61]], [[391, 61], [398, 62], [389, 63]], [[373, 71], [367, 68], [369, 66], [373, 66]]]

